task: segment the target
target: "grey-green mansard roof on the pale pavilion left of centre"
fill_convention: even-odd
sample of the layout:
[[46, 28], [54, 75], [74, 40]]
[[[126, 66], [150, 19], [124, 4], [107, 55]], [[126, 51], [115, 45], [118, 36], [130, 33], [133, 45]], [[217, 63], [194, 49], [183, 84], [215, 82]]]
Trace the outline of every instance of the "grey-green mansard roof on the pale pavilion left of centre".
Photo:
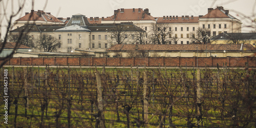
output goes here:
[[72, 26], [72, 25], [78, 25], [78, 26], [87, 26], [89, 24], [87, 18], [85, 15], [82, 14], [75, 14], [72, 15], [71, 19], [67, 23], [67, 26]]

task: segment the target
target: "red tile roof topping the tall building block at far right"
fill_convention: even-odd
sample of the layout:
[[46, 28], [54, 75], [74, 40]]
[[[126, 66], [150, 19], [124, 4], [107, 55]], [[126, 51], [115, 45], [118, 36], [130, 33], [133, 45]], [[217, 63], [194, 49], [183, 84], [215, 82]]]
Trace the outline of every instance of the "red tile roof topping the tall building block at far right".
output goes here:
[[202, 16], [201, 18], [229, 18], [224, 12], [219, 10], [218, 8], [210, 11], [206, 15]]

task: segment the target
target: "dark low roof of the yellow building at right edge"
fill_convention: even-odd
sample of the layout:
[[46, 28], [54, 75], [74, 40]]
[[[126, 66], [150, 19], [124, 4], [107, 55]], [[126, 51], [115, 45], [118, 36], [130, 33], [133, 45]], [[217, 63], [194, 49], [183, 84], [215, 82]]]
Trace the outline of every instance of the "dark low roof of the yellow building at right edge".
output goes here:
[[212, 40], [227, 40], [231, 37], [237, 37], [241, 40], [244, 39], [256, 39], [256, 33], [221, 33], [215, 37], [212, 37]]

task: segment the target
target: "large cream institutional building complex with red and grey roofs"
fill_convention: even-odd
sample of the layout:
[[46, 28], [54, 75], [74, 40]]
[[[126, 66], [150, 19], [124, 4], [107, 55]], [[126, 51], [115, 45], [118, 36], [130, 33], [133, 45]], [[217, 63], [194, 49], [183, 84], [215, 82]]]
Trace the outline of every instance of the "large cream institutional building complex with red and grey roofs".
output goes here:
[[[144, 44], [152, 44], [150, 38], [153, 26], [160, 24], [167, 26], [165, 29], [171, 31], [167, 35], [167, 44], [191, 44], [193, 41], [190, 39], [190, 33], [198, 28], [210, 29], [208, 36], [216, 36], [220, 33], [241, 32], [242, 25], [239, 19], [230, 15], [223, 7], [208, 8], [208, 13], [205, 15], [163, 17], [154, 17], [148, 9], [141, 8], [117, 9], [110, 17], [86, 17], [75, 14], [71, 18], [56, 18], [51, 13], [31, 10], [14, 22], [15, 29], [10, 34], [22, 32], [24, 29], [28, 29], [34, 38], [49, 34], [61, 41], [57, 52], [75, 50], [104, 52], [117, 43], [137, 44], [137, 35], [140, 32], [145, 34]], [[117, 32], [118, 28], [121, 28], [120, 31], [124, 36], [120, 42], [113, 39], [115, 36], [113, 30]], [[176, 37], [177, 40], [172, 42], [172, 37]]]

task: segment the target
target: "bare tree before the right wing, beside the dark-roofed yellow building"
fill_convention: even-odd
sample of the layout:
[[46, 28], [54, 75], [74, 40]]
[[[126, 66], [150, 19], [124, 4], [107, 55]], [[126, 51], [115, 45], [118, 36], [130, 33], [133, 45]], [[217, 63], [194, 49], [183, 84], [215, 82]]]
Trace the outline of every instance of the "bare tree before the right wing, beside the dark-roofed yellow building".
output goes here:
[[190, 40], [195, 41], [195, 44], [210, 43], [211, 37], [210, 29], [208, 28], [198, 28], [195, 32], [190, 33]]

